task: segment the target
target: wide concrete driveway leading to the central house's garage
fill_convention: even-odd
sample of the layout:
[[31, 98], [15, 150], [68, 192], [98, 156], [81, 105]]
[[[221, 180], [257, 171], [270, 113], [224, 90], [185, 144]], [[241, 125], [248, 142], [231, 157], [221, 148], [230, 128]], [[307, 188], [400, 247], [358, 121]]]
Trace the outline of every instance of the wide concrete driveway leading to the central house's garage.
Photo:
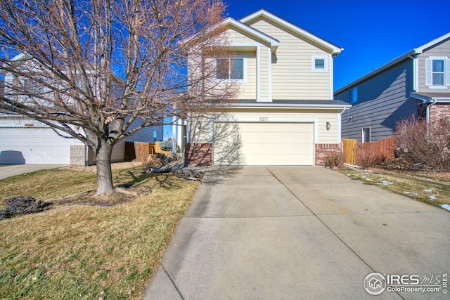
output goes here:
[[449, 228], [448, 211], [329, 169], [212, 168], [144, 299], [373, 299], [373, 272], [439, 279], [381, 299], [448, 299]]

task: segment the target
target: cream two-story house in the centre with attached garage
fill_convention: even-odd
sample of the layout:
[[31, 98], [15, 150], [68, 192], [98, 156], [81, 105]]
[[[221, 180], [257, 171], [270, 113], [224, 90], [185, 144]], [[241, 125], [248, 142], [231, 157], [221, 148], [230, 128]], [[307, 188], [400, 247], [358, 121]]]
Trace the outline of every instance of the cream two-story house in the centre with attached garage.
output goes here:
[[264, 10], [223, 25], [233, 55], [211, 63], [240, 93], [227, 115], [174, 127], [178, 145], [186, 136], [186, 164], [319, 165], [340, 153], [351, 107], [333, 100], [342, 48]]

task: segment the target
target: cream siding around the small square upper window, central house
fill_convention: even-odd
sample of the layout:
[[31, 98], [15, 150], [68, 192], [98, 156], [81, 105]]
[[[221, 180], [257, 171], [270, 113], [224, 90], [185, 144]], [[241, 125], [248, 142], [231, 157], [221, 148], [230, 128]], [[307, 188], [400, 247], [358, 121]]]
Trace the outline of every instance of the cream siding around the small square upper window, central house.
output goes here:
[[312, 56], [328, 56], [326, 51], [296, 37], [266, 20], [250, 24], [280, 41], [272, 56], [272, 96], [279, 100], [320, 100], [330, 98], [330, 66], [328, 72], [312, 72]]

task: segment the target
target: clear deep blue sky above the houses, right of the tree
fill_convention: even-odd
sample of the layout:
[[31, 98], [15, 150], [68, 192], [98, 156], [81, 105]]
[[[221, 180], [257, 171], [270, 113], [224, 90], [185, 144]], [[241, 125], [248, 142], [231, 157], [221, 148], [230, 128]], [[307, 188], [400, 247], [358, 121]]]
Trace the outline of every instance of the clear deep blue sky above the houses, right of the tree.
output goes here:
[[450, 32], [449, 0], [225, 0], [240, 19], [264, 8], [345, 50], [334, 60], [334, 87]]

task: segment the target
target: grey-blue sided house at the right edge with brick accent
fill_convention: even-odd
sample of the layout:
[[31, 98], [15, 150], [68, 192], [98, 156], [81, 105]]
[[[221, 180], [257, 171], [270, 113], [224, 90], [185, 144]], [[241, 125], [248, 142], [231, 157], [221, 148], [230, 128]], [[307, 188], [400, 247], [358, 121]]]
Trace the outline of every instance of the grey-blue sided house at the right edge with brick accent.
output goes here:
[[450, 32], [343, 86], [335, 99], [353, 105], [342, 115], [342, 138], [361, 142], [392, 136], [411, 116], [450, 117]]

